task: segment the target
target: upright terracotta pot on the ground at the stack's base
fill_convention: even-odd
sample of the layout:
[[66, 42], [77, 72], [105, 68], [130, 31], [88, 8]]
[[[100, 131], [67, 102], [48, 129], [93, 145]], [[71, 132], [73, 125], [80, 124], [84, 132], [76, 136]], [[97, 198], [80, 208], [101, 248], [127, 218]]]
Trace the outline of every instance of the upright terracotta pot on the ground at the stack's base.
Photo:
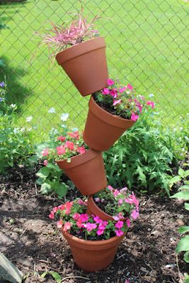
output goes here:
[[71, 236], [63, 230], [62, 233], [69, 243], [76, 265], [81, 270], [88, 272], [103, 270], [108, 267], [115, 257], [120, 241], [125, 237], [123, 235], [103, 241], [86, 241]]

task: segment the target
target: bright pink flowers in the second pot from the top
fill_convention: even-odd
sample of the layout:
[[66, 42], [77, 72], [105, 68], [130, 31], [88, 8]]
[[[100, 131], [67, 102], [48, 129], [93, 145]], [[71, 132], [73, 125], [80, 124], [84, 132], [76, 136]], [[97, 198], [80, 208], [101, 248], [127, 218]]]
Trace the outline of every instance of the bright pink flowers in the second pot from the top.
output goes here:
[[134, 88], [129, 83], [127, 86], [115, 85], [115, 81], [108, 79], [108, 87], [94, 93], [93, 97], [98, 105], [108, 109], [114, 115], [137, 121], [146, 105], [154, 108], [154, 102], [146, 101], [144, 96], [134, 96]]

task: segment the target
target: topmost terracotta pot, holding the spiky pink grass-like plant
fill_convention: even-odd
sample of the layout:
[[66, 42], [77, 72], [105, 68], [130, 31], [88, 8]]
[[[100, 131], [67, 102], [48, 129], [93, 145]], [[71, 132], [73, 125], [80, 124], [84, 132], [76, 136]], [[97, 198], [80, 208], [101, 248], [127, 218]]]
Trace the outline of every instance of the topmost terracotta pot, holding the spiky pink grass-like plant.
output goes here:
[[56, 59], [82, 96], [107, 86], [108, 67], [103, 37], [69, 47], [59, 52]]

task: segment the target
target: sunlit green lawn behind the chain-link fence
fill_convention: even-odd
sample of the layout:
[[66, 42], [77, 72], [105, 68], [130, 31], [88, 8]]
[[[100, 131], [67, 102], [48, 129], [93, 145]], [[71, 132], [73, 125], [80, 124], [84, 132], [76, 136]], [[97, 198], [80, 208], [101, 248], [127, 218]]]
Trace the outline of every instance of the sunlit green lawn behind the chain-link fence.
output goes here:
[[[164, 122], [176, 125], [178, 115], [189, 112], [188, 38], [189, 5], [184, 1], [82, 1], [88, 18], [98, 14], [100, 34], [107, 43], [110, 78], [132, 83], [137, 92], [154, 93], [156, 110]], [[0, 79], [8, 83], [8, 99], [21, 110], [18, 123], [33, 116], [38, 134], [56, 127], [59, 116], [69, 112], [71, 127], [84, 127], [88, 98], [82, 98], [64, 71], [39, 47], [35, 31], [71, 16], [79, 1], [28, 0], [0, 4]], [[47, 111], [54, 107], [55, 114]]]

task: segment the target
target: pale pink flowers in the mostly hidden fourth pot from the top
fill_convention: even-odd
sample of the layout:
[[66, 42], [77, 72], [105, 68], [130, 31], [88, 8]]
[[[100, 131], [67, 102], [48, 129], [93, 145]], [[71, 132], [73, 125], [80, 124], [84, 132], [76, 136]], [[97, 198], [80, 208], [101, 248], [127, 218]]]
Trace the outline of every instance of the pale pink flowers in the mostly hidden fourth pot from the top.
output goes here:
[[97, 206], [113, 216], [113, 219], [119, 221], [120, 219], [127, 219], [127, 226], [130, 226], [130, 220], [136, 220], [139, 216], [139, 200], [130, 193], [127, 187], [121, 190], [114, 189], [108, 185], [105, 190], [97, 192], [94, 195], [94, 201]]

